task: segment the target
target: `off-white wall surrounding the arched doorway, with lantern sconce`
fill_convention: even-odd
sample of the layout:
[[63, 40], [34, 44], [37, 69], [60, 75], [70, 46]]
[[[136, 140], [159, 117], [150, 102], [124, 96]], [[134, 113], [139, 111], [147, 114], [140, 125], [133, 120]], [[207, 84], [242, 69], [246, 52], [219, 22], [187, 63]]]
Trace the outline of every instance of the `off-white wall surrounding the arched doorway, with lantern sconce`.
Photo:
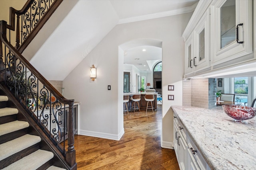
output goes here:
[[[122, 45], [140, 38], [162, 41], [162, 147], [172, 148], [172, 105], [182, 105], [184, 74], [184, 42], [181, 35], [190, 14], [117, 25], [64, 79], [65, 97], [81, 102], [80, 133], [120, 139], [123, 128], [123, 70]], [[97, 78], [90, 81], [89, 69], [94, 64]], [[147, 76], [148, 79], [148, 76]], [[146, 80], [148, 81], [148, 80]], [[175, 91], [168, 91], [168, 85]], [[107, 86], [111, 85], [111, 90]], [[174, 101], [168, 100], [174, 94]]]

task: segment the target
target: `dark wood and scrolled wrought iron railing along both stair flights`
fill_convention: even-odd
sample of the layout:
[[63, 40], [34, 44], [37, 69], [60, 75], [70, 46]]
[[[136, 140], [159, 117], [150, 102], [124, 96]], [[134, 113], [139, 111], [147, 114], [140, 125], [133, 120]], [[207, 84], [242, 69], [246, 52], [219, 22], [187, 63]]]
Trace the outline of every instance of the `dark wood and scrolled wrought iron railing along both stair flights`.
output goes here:
[[[47, 7], [46, 2], [48, 2]], [[60, 150], [70, 169], [73, 169], [76, 167], [74, 100], [64, 98], [21, 54], [61, 2], [62, 0], [28, 0], [22, 10], [18, 11], [10, 7], [10, 25], [6, 21], [0, 21], [0, 81], [5, 82], [28, 114]], [[34, 12], [31, 13], [32, 11]], [[17, 16], [16, 30], [15, 16]], [[20, 24], [22, 20], [28, 21], [29, 24]], [[27, 30], [26, 33], [23, 29]], [[10, 30], [16, 31], [14, 36], [16, 38], [12, 39], [13, 34]], [[12, 44], [15, 44], [15, 47]], [[69, 111], [68, 117], [66, 110]], [[61, 117], [64, 117], [64, 121]], [[65, 142], [63, 146], [60, 144], [61, 141], [66, 140], [66, 134], [68, 134], [67, 147]]]

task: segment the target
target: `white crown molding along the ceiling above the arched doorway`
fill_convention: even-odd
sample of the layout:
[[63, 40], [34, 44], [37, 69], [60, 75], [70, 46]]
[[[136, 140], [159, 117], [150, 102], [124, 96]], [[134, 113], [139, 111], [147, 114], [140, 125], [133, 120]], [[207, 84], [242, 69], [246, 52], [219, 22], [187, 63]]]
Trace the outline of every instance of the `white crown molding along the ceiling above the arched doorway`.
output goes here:
[[174, 15], [178, 15], [178, 14], [189, 13], [189, 12], [193, 12], [196, 9], [197, 4], [198, 4], [198, 2], [196, 2], [192, 6], [180, 8], [180, 9], [176, 9], [176, 10], [158, 12], [158, 13], [154, 13], [154, 14], [148, 14], [148, 15], [131, 17], [131, 18], [125, 18], [125, 19], [119, 20], [117, 24], [150, 20], [150, 19], [155, 19], [155, 18], [162, 18], [162, 17], [167, 17], [167, 16], [174, 16]]

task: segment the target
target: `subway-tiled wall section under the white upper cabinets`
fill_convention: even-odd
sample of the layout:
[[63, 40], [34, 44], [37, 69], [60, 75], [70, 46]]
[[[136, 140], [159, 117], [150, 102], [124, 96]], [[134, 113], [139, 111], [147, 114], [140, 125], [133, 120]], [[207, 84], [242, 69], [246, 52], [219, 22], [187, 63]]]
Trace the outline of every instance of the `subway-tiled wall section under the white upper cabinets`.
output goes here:
[[216, 107], [216, 86], [215, 78], [183, 80], [183, 106]]

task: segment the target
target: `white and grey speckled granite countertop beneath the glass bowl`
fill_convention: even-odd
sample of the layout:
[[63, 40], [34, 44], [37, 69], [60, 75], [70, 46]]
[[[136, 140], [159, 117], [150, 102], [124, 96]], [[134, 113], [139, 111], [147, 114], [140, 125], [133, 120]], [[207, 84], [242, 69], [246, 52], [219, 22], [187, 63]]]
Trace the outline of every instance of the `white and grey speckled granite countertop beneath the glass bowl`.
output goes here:
[[222, 107], [172, 106], [202, 156], [214, 170], [256, 169], [256, 117], [239, 124]]

